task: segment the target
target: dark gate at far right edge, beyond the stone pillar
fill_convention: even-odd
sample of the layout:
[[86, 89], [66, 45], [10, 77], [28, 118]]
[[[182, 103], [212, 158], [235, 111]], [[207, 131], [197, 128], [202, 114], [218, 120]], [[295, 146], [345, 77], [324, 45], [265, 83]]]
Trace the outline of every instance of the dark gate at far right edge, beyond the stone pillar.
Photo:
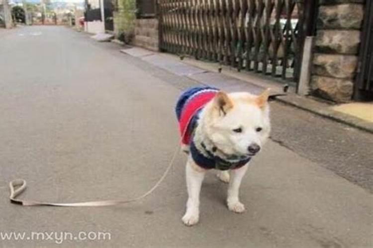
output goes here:
[[373, 2], [366, 1], [354, 99], [373, 100]]

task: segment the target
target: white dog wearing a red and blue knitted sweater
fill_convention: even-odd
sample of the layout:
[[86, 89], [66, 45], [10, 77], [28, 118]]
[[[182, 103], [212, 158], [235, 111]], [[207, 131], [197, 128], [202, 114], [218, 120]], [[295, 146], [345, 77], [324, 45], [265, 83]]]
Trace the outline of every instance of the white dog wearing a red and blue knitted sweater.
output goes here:
[[[224, 93], [211, 87], [187, 90], [179, 98], [176, 113], [182, 145], [189, 153], [186, 166], [187, 226], [199, 220], [199, 192], [205, 172], [217, 169], [228, 183], [229, 210], [242, 213], [239, 187], [252, 156], [270, 134], [269, 90], [256, 96], [246, 92]], [[228, 173], [230, 172], [230, 174]]]

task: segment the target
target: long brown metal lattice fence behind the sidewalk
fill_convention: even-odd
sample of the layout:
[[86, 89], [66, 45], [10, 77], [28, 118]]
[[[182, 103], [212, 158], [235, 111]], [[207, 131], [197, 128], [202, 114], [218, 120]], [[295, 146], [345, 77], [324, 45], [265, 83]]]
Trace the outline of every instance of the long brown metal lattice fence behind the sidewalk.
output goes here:
[[297, 80], [304, 0], [159, 0], [164, 51]]

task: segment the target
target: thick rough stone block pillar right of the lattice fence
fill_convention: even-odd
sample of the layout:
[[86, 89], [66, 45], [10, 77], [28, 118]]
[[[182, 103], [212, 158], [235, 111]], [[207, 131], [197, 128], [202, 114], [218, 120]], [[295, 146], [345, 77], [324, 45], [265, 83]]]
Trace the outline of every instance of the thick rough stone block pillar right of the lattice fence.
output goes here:
[[348, 102], [358, 64], [364, 0], [320, 0], [311, 94]]

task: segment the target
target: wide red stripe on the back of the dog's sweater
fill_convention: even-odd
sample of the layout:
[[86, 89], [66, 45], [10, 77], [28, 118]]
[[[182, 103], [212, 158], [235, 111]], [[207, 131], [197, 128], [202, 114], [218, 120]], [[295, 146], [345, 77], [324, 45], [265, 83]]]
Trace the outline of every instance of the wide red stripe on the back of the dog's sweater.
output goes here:
[[[182, 143], [189, 144], [190, 135], [191, 133], [187, 133], [188, 125], [196, 114], [196, 112], [201, 109], [204, 105], [206, 105], [217, 92], [202, 92], [199, 95], [193, 97], [189, 102], [187, 102], [186, 106], [183, 108], [183, 112], [180, 117], [179, 127], [180, 133], [182, 135]], [[184, 135], [184, 136], [183, 136]]]

